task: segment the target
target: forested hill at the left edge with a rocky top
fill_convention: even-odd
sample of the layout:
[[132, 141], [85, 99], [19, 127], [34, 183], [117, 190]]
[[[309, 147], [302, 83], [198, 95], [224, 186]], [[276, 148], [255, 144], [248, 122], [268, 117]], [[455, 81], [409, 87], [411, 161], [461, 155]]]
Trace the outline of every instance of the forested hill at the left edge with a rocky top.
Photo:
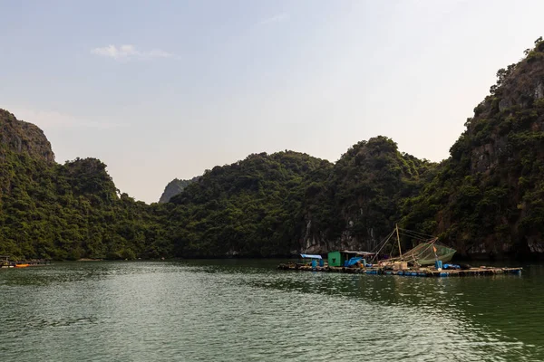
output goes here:
[[0, 254], [119, 259], [167, 252], [157, 246], [162, 232], [150, 207], [119, 195], [100, 160], [54, 163], [42, 130], [5, 110], [0, 129]]

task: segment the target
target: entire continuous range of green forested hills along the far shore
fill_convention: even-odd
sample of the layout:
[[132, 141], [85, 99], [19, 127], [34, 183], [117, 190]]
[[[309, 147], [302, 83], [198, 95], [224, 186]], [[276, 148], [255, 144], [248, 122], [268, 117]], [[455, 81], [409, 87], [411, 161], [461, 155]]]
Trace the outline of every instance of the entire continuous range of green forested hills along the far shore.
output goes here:
[[396, 223], [437, 234], [465, 255], [542, 253], [542, 39], [525, 53], [497, 72], [440, 164], [380, 136], [335, 164], [292, 151], [250, 155], [172, 181], [164, 203], [153, 205], [120, 194], [97, 159], [54, 163], [40, 129], [0, 110], [0, 254], [133, 259], [372, 249]]

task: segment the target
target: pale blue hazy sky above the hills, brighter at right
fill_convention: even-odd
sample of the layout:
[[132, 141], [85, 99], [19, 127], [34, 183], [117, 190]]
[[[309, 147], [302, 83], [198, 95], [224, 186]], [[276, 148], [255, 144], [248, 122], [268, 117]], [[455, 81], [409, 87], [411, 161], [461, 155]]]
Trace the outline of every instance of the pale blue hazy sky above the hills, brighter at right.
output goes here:
[[384, 135], [440, 161], [496, 71], [544, 35], [519, 0], [0, 0], [0, 108], [56, 161], [156, 202], [252, 153], [335, 162]]

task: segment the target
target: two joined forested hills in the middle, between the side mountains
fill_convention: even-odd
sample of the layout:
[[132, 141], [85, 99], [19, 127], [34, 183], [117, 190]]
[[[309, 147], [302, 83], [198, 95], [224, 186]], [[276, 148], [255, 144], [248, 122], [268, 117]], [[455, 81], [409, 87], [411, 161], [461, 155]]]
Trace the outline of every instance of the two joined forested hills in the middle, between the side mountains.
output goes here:
[[434, 167], [382, 136], [359, 142], [335, 164], [292, 151], [250, 155], [172, 197], [174, 250], [210, 257], [371, 249]]

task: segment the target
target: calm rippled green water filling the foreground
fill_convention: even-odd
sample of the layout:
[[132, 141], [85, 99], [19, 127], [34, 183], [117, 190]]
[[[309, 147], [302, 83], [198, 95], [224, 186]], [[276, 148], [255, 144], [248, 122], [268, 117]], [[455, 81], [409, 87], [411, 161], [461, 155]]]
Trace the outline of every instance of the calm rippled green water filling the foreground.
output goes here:
[[277, 261], [0, 270], [0, 359], [544, 361], [544, 267], [410, 278]]

